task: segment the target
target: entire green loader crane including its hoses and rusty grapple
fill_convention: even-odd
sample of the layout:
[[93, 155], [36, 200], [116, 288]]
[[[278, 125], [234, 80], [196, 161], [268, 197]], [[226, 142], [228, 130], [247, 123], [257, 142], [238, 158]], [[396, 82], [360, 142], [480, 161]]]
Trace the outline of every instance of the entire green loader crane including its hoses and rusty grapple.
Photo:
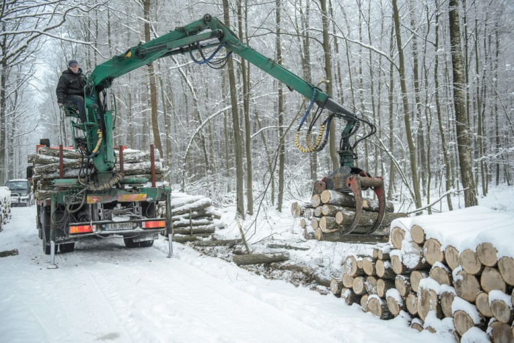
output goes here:
[[[206, 58], [203, 50], [212, 47], [217, 47], [215, 53], [209, 58]], [[350, 233], [358, 224], [360, 217], [360, 209], [362, 208], [361, 187], [365, 189], [370, 187], [377, 194], [379, 203], [381, 204], [378, 220], [371, 231], [376, 230], [382, 222], [385, 211], [382, 178], [372, 178], [367, 172], [354, 167], [354, 159], [356, 158], [354, 148], [356, 144], [371, 136], [371, 134], [374, 134], [376, 131], [375, 126], [363, 118], [358, 118], [354, 113], [343, 108], [340, 104], [337, 104], [330, 95], [323, 92], [320, 88], [306, 82], [306, 80], [282, 67], [280, 64], [276, 63], [276, 61], [263, 56], [251, 47], [241, 43], [236, 34], [234, 34], [229, 27], [215, 17], [210, 16], [210, 14], [206, 14], [202, 19], [183, 27], [177, 27], [168, 34], [164, 34], [147, 43], [140, 43], [135, 47], [127, 49], [124, 54], [114, 56], [110, 60], [99, 64], [93, 73], [88, 75], [84, 89], [87, 119], [86, 123], [81, 124], [86, 132], [86, 141], [82, 142], [82, 149], [87, 150], [88, 157], [93, 158], [93, 162], [97, 168], [97, 183], [102, 185], [109, 182], [112, 178], [111, 171], [114, 167], [114, 147], [112, 144], [113, 111], [109, 108], [110, 101], [107, 92], [107, 88], [110, 88], [112, 81], [158, 58], [178, 54], [189, 54], [191, 58], [199, 64], [215, 63], [212, 61], [212, 57], [214, 57], [222, 47], [225, 47], [225, 49], [228, 49], [231, 53], [241, 56], [241, 58], [254, 64], [273, 78], [286, 84], [291, 91], [295, 90], [304, 95], [304, 97], [311, 99], [309, 110], [312, 108], [313, 104], [317, 104], [319, 109], [323, 110], [324, 108], [331, 113], [321, 124], [317, 141], [312, 145], [310, 143], [310, 130], [314, 122], [310, 124], [306, 135], [307, 147], [302, 147], [298, 143], [300, 128], [302, 128], [308, 112], [304, 115], [300, 121], [295, 137], [295, 143], [302, 152], [321, 150], [328, 141], [329, 130], [326, 130], [325, 138], [323, 139], [323, 143], [321, 143], [323, 132], [330, 126], [332, 119], [345, 119], [346, 126], [341, 133], [338, 151], [341, 167], [330, 174], [330, 176], [318, 182], [315, 191], [319, 192], [323, 191], [323, 189], [334, 189], [336, 191], [354, 193], [357, 211], [354, 224], [352, 224], [350, 230], [347, 230], [347, 233]], [[195, 50], [201, 55], [201, 60], [194, 58], [193, 51]], [[229, 56], [226, 56], [225, 59], [228, 57]], [[223, 62], [223, 59], [221, 62]], [[367, 123], [371, 130], [365, 137], [360, 137], [352, 145], [350, 144], [350, 137], [356, 133], [360, 122]]]

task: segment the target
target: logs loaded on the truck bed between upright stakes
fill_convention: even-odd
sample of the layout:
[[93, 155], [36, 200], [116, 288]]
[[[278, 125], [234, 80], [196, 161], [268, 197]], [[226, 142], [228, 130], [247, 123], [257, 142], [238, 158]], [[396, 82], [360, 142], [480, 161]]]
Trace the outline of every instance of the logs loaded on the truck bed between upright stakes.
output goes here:
[[[120, 171], [119, 151], [117, 154], [117, 163], [114, 172]], [[164, 181], [164, 170], [160, 162], [159, 151], [155, 150], [155, 167], [156, 182]], [[36, 154], [29, 154], [27, 162], [32, 163], [34, 176], [32, 182], [34, 185], [34, 197], [36, 199], [45, 199], [51, 196], [52, 191], [56, 188], [51, 185], [52, 180], [59, 178], [59, 150], [49, 147], [40, 147]], [[75, 150], [63, 150], [63, 178], [77, 178], [82, 163], [82, 155]], [[93, 163], [90, 163], [93, 167]], [[141, 150], [125, 149], [123, 150], [123, 175], [133, 178], [147, 178], [151, 181], [151, 162], [150, 152]]]

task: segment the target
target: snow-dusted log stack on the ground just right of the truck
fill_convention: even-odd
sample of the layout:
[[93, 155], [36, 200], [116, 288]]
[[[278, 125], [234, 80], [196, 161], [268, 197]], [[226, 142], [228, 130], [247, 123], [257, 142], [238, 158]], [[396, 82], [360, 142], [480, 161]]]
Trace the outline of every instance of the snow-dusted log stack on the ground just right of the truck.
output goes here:
[[[162, 206], [161, 215], [165, 215]], [[209, 237], [215, 233], [214, 219], [221, 214], [212, 207], [210, 198], [191, 196], [186, 193], [171, 193], [171, 213], [173, 220], [173, 239], [175, 241], [194, 241], [197, 237]]]

